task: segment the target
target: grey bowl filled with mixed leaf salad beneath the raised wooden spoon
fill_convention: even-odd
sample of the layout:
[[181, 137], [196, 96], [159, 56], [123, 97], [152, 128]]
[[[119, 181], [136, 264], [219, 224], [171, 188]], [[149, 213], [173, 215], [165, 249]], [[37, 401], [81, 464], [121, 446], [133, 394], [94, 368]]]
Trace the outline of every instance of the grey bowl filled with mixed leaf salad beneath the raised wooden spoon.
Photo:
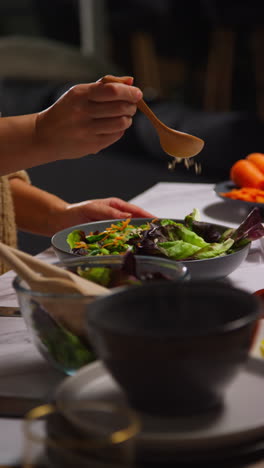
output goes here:
[[[220, 225], [220, 224], [213, 224], [213, 223], [204, 223], [204, 222], [195, 220], [194, 218], [197, 216], [197, 211], [198, 210], [193, 210], [193, 213], [191, 215], [186, 216], [185, 219], [173, 219], [173, 220], [159, 219], [158, 222], [165, 223], [169, 221], [169, 223], [174, 223], [174, 224], [179, 223], [186, 227], [188, 221], [190, 222], [190, 218], [191, 218], [191, 221], [195, 221], [196, 226], [198, 226], [199, 228], [198, 243], [201, 242], [202, 246], [205, 246], [205, 247], [209, 246], [210, 249], [211, 249], [211, 246], [215, 244], [216, 236], [218, 236], [218, 238], [221, 238], [221, 236], [225, 235], [228, 232], [230, 235], [232, 233], [234, 234], [235, 230], [231, 230], [228, 226]], [[81, 240], [81, 238], [84, 238], [85, 236], [89, 236], [90, 233], [97, 233], [97, 235], [98, 234], [101, 235], [102, 233], [109, 230], [112, 225], [116, 225], [117, 223], [126, 223], [126, 222], [127, 220], [107, 220], [107, 221], [97, 221], [97, 222], [80, 224], [77, 226], [69, 227], [67, 229], [64, 229], [56, 233], [52, 237], [51, 243], [55, 250], [56, 255], [63, 262], [67, 258], [74, 258], [74, 257], [76, 258], [83, 253], [82, 250], [80, 249], [72, 248], [73, 244], [71, 244], [70, 246], [70, 243], [71, 241], [74, 240], [76, 234], [77, 234], [77, 239]], [[130, 225], [134, 226], [135, 229], [137, 229], [138, 227], [142, 225], [146, 225], [147, 223], [150, 224], [149, 232], [151, 232], [151, 229], [154, 226], [153, 219], [135, 218], [135, 219], [130, 220]], [[198, 280], [219, 280], [219, 279], [225, 278], [234, 270], [236, 270], [236, 268], [239, 267], [239, 265], [247, 257], [251, 240], [260, 238], [264, 235], [264, 228], [261, 224], [261, 216], [257, 208], [252, 210], [252, 212], [248, 215], [245, 221], [237, 228], [236, 231], [239, 235], [239, 239], [241, 240], [240, 244], [238, 242], [236, 243], [237, 245], [236, 248], [232, 248], [234, 246], [234, 244], [232, 244], [232, 241], [225, 239], [225, 241], [221, 242], [222, 244], [225, 242], [224, 247], [223, 248], [221, 247], [222, 251], [219, 250], [220, 242], [217, 242], [217, 245], [215, 248], [218, 249], [219, 252], [217, 255], [213, 253], [212, 256], [209, 258], [206, 257], [207, 255], [206, 253], [205, 255], [204, 254], [201, 255], [200, 258], [198, 256], [195, 256], [195, 253], [193, 253], [189, 258], [187, 258], [186, 252], [182, 254], [182, 258], [179, 258], [179, 261], [187, 267], [192, 280], [197, 280], [197, 279]], [[80, 235], [78, 234], [80, 232], [82, 233], [81, 235], [82, 237], [80, 237]], [[186, 232], [184, 232], [184, 235], [185, 234]], [[193, 235], [194, 235], [193, 232], [187, 233], [187, 237], [193, 237]], [[151, 235], [149, 237], [151, 237]], [[153, 236], [151, 240], [153, 240]], [[191, 240], [191, 242], [197, 242], [197, 238], [195, 237], [194, 241]], [[230, 242], [229, 244], [230, 248], [227, 248], [228, 242]], [[184, 243], [184, 246], [185, 244], [187, 243]], [[79, 245], [83, 245], [83, 244], [79, 244]], [[162, 243], [162, 246], [164, 246], [164, 243]], [[171, 243], [167, 242], [166, 247], [170, 248], [170, 246], [171, 246]], [[197, 250], [196, 246], [195, 247], [191, 246], [191, 249], [193, 248]], [[94, 255], [94, 252], [91, 252], [91, 253], [92, 255]], [[99, 252], [99, 254], [101, 254], [101, 252]], [[153, 242], [152, 243], [150, 242], [147, 244], [147, 246], [145, 244], [144, 248], [140, 252], [136, 252], [136, 254], [137, 255], [143, 254], [143, 255], [150, 255], [150, 256], [164, 256], [164, 250], [158, 251], [157, 249], [154, 249]], [[87, 251], [85, 252], [85, 255], [92, 256], [92, 255], [89, 255], [89, 252]], [[184, 255], [186, 255], [185, 258], [184, 258]], [[175, 260], [174, 257], [169, 257], [169, 258], [171, 260]]]

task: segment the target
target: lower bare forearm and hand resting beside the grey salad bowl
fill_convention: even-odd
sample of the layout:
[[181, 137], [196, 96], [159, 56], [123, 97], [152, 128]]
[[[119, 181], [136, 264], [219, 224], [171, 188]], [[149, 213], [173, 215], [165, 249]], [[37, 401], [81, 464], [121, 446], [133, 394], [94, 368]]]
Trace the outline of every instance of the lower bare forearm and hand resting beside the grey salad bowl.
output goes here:
[[143, 208], [120, 198], [110, 197], [71, 204], [18, 177], [10, 179], [9, 183], [18, 228], [42, 236], [52, 236], [66, 227], [90, 221], [154, 218]]

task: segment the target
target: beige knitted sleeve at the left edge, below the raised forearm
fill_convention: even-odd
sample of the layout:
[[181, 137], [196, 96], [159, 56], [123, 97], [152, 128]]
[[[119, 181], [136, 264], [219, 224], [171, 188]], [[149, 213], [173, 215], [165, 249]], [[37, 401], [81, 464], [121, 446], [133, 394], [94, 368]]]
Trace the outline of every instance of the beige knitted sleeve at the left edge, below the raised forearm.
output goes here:
[[[30, 183], [25, 171], [13, 172], [0, 177], [0, 241], [12, 247], [17, 246], [17, 231], [15, 222], [14, 204], [10, 190], [9, 179], [19, 177]], [[0, 274], [7, 271], [7, 266], [0, 261]]]

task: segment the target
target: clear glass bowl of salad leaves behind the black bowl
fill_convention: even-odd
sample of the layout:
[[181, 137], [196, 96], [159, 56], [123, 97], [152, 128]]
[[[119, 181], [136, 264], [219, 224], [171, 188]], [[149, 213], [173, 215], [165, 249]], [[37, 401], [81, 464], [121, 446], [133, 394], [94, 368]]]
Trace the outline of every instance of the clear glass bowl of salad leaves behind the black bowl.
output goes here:
[[[154, 273], [176, 283], [189, 279], [188, 270], [181, 263], [155, 257], [134, 258], [143, 283], [150, 281]], [[123, 261], [121, 256], [83, 257], [57, 262], [56, 265], [72, 272], [106, 268], [118, 274]], [[135, 282], [131, 281], [131, 284], [135, 285]], [[14, 279], [13, 287], [33, 342], [53, 366], [72, 375], [96, 359], [85, 332], [85, 316], [91, 302], [96, 299], [94, 296], [32, 291], [18, 276]], [[113, 291], [127, 287], [129, 285], [113, 288]]]

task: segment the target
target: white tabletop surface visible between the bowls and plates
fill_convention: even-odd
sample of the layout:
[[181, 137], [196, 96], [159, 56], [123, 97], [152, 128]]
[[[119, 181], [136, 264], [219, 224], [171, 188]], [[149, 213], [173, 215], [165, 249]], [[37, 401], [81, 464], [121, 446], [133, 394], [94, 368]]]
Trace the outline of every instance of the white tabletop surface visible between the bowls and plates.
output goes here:
[[[211, 184], [159, 183], [131, 201], [157, 217], [183, 218], [193, 208], [198, 208], [203, 221], [234, 227], [246, 215], [234, 204], [220, 200]], [[56, 260], [52, 249], [38, 257], [48, 262]], [[255, 241], [247, 259], [228, 280], [249, 292], [263, 289], [263, 260], [264, 251], [260, 242]], [[1, 307], [17, 306], [13, 278], [14, 272], [10, 271], [0, 279], [0, 314]], [[21, 317], [0, 316], [0, 321], [0, 464], [11, 465], [22, 453], [21, 417], [25, 410], [39, 402], [50, 401], [57, 385], [67, 377], [51, 368], [42, 358], [31, 343]], [[263, 325], [255, 355], [260, 355]]]

